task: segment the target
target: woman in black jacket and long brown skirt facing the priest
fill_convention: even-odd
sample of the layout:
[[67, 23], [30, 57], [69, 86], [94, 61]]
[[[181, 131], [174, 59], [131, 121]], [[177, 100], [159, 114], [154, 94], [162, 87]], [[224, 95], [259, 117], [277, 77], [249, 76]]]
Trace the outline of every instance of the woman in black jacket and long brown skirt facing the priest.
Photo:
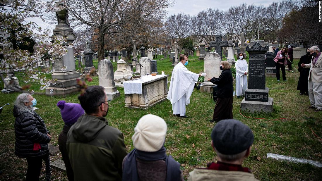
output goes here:
[[227, 61], [222, 61], [220, 69], [222, 73], [218, 78], [208, 78], [207, 80], [217, 85], [217, 102], [213, 110], [213, 119], [210, 122], [218, 122], [223, 119], [233, 119], [232, 117], [232, 71]]

